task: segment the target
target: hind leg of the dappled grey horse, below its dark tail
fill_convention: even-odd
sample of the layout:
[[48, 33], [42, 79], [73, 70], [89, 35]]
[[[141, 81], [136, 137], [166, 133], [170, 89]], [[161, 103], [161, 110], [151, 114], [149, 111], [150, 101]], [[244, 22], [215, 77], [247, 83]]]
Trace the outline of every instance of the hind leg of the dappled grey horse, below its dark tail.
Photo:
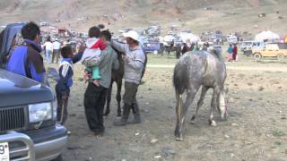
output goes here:
[[177, 108], [177, 116], [178, 116], [178, 123], [177, 123], [178, 131], [176, 131], [177, 140], [183, 140], [185, 116], [187, 114], [187, 109], [188, 109], [188, 106], [192, 104], [199, 87], [200, 86], [196, 87], [195, 89], [187, 90], [187, 100], [183, 107], [182, 107], [182, 95], [179, 95], [179, 99], [181, 100], [181, 102], [179, 102], [178, 108]]

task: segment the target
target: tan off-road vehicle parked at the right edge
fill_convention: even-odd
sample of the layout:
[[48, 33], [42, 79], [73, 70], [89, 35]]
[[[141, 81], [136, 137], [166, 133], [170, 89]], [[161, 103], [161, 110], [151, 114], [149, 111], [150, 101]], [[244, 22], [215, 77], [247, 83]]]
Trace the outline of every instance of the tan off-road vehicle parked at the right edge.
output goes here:
[[287, 56], [287, 44], [266, 44], [264, 48], [252, 49], [252, 55], [254, 55], [256, 60], [260, 60], [264, 57], [276, 57], [279, 61], [281, 61]]

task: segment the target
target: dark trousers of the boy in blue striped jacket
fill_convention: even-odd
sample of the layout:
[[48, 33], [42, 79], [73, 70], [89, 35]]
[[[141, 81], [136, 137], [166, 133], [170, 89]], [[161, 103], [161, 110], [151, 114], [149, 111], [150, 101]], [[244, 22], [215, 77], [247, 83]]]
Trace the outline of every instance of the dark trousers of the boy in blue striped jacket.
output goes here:
[[69, 92], [62, 93], [56, 91], [57, 95], [57, 122], [61, 124], [65, 124], [65, 120], [68, 116], [68, 98]]

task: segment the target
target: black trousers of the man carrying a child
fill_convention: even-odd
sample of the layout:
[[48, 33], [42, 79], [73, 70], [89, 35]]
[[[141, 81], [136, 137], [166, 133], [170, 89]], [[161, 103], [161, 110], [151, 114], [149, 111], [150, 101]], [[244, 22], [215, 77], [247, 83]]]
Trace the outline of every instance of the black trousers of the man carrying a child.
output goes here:
[[84, 93], [83, 104], [86, 119], [91, 131], [103, 132], [103, 110], [108, 89], [89, 83]]

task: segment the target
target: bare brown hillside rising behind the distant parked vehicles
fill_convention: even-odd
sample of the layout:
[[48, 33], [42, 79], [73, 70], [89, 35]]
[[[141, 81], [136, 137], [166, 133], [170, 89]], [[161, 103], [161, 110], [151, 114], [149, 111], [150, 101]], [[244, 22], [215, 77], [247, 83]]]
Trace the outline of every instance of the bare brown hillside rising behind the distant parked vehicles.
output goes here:
[[[105, 23], [117, 30], [157, 23], [196, 33], [215, 29], [284, 32], [286, 7], [285, 0], [1, 0], [0, 25], [51, 21], [57, 26], [87, 30], [87, 26]], [[258, 18], [259, 13], [266, 13], [266, 17]]]

